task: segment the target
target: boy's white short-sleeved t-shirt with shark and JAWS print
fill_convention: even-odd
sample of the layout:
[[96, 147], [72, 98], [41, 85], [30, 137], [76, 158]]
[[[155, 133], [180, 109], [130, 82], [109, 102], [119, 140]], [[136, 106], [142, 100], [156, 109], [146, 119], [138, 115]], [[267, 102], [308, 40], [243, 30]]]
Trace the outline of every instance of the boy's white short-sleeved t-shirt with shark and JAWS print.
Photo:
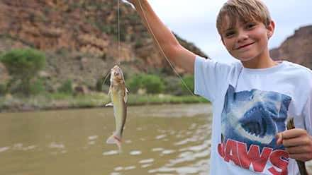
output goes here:
[[312, 135], [312, 71], [281, 61], [244, 68], [196, 56], [195, 93], [213, 105], [210, 174], [297, 174], [276, 133], [294, 117]]

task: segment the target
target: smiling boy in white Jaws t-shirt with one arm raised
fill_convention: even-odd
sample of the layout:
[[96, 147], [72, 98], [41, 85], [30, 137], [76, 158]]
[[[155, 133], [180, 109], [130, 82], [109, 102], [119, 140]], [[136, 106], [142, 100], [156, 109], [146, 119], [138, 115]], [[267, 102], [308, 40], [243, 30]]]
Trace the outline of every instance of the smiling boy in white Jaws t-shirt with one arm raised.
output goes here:
[[[211, 175], [298, 174], [312, 159], [312, 71], [269, 56], [274, 22], [260, 0], [230, 0], [217, 29], [240, 62], [196, 56], [177, 42], [147, 0], [130, 0], [174, 65], [194, 72], [195, 93], [213, 105]], [[295, 129], [286, 131], [294, 118]]]

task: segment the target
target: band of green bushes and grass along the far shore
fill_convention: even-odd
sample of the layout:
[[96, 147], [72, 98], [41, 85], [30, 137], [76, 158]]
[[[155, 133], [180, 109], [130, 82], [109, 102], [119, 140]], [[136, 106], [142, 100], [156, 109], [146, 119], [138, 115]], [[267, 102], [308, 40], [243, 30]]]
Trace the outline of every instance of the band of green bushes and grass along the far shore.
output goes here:
[[[106, 94], [110, 84], [107, 76], [80, 79], [79, 73], [78, 76], [67, 73], [65, 78], [52, 76], [47, 69], [50, 59], [46, 59], [45, 52], [31, 48], [0, 53], [0, 62], [8, 73], [7, 78], [0, 79], [0, 112], [105, 107], [110, 102]], [[167, 72], [165, 69], [135, 72], [124, 67], [130, 91], [128, 106], [208, 102], [192, 95], [193, 75], [185, 73], [178, 78]]]

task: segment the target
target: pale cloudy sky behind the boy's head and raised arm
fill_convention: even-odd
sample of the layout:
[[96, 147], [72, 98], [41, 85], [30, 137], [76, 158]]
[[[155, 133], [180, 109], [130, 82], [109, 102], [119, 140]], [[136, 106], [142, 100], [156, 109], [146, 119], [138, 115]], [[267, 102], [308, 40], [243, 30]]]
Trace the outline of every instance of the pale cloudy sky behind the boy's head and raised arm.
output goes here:
[[[216, 16], [225, 0], [148, 0], [163, 23], [192, 42], [211, 59], [232, 62], [216, 30]], [[294, 31], [312, 25], [311, 0], [262, 0], [276, 24], [269, 49], [279, 47]]]

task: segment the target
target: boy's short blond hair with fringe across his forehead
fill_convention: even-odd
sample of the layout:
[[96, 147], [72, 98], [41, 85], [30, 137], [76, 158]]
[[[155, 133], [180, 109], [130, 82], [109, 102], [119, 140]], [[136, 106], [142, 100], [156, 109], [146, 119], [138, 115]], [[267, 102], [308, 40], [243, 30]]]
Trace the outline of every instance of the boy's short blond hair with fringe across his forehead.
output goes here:
[[[225, 25], [224, 18], [228, 16], [230, 24]], [[218, 13], [216, 27], [219, 34], [225, 28], [233, 28], [236, 25], [237, 20], [243, 23], [257, 20], [263, 23], [266, 27], [271, 21], [271, 16], [267, 6], [265, 6], [260, 0], [229, 0], [223, 4], [221, 10]]]

